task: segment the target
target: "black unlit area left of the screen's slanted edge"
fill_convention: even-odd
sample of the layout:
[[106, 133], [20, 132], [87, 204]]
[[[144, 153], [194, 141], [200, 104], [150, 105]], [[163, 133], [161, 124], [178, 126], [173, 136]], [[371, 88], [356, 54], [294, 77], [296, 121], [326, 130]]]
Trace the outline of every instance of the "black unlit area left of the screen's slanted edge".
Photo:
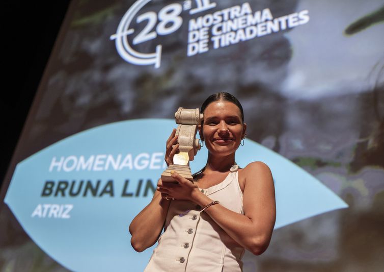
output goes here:
[[5, 75], [0, 92], [3, 122], [0, 185], [70, 2], [7, 1], [3, 4], [1, 32]]

